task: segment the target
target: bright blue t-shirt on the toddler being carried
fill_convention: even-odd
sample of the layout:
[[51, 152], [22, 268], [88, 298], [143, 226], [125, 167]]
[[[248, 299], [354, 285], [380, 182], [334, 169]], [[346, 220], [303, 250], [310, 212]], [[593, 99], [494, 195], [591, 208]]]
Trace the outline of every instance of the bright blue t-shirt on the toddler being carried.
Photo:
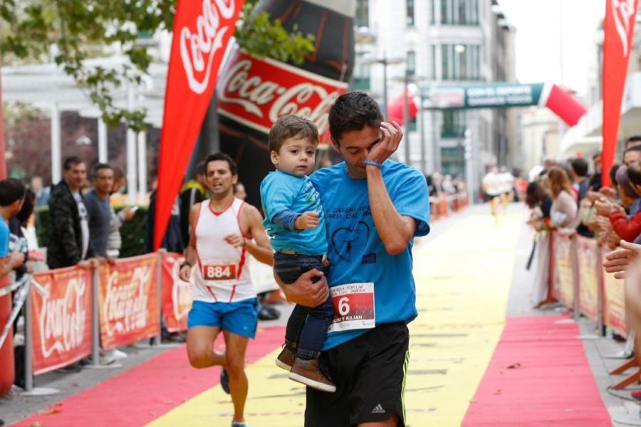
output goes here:
[[[269, 172], [261, 182], [261, 202], [265, 211], [263, 225], [271, 238], [274, 251], [291, 250], [304, 255], [327, 253], [325, 215], [320, 197], [309, 176], [292, 176], [280, 171]], [[303, 214], [318, 212], [318, 226], [307, 230], [289, 231], [273, 222], [283, 211]]]

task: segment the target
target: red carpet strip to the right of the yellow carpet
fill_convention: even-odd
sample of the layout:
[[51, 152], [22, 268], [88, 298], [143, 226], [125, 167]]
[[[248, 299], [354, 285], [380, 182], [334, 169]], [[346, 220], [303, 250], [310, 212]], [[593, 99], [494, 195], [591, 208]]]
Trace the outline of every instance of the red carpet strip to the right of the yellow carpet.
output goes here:
[[567, 317], [509, 317], [463, 426], [612, 426]]

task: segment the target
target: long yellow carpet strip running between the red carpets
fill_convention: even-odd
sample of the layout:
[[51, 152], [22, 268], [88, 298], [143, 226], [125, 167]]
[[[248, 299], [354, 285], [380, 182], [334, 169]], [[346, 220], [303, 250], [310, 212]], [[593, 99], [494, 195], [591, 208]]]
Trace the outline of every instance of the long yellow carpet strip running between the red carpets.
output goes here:
[[[408, 426], [459, 426], [504, 326], [522, 215], [475, 215], [415, 249], [419, 317], [410, 324], [405, 406]], [[273, 360], [247, 369], [251, 427], [303, 425], [305, 389]], [[220, 386], [150, 426], [229, 426], [231, 400]], [[340, 426], [336, 426], [340, 427]]]

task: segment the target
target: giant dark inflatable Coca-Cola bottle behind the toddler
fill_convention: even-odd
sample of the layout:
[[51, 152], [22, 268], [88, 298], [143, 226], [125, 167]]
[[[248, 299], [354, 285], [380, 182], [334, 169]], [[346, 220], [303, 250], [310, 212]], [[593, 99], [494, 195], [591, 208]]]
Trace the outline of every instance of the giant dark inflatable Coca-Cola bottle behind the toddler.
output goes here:
[[[288, 31], [316, 37], [316, 51], [301, 65], [271, 58], [254, 58], [238, 48], [231, 51], [217, 82], [220, 147], [238, 164], [247, 201], [260, 206], [259, 185], [273, 170], [268, 133], [283, 115], [299, 115], [316, 123], [327, 144], [328, 111], [348, 89], [354, 65], [353, 16], [338, 10], [352, 2], [272, 0], [256, 11], [266, 11]], [[323, 135], [324, 134], [324, 135]]]

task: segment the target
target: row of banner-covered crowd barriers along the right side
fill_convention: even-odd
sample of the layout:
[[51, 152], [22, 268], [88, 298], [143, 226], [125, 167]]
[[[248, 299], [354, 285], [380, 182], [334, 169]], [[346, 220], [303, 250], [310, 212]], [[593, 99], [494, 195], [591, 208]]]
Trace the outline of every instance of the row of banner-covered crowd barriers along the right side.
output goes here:
[[604, 325], [627, 336], [625, 325], [624, 281], [606, 273], [603, 261], [607, 250], [592, 238], [568, 236], [553, 231], [550, 238], [548, 299], [561, 302], [590, 318], [604, 334]]

